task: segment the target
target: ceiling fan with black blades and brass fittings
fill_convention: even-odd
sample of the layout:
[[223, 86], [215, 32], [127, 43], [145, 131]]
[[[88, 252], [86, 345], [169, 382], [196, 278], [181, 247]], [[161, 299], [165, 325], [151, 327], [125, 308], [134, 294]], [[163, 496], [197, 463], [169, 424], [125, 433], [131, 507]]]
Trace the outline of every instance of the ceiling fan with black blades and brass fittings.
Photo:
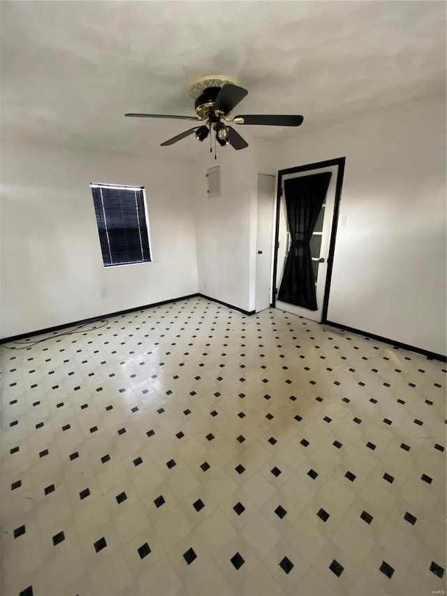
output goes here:
[[[194, 101], [197, 116], [175, 116], [163, 114], [125, 114], [132, 118], [171, 118], [180, 120], [194, 120], [203, 124], [194, 126], [173, 138], [161, 143], [161, 147], [173, 145], [177, 141], [195, 134], [202, 142], [214, 131], [215, 140], [225, 147], [231, 145], [240, 150], [248, 147], [248, 143], [233, 129], [231, 124], [256, 124], [261, 126], [300, 126], [303, 117], [298, 115], [240, 115], [230, 118], [230, 112], [248, 94], [247, 89], [237, 85], [233, 79], [225, 75], [206, 75], [194, 81], [189, 87], [189, 96]], [[212, 140], [212, 138], [210, 137]], [[212, 151], [212, 148], [211, 148]]]

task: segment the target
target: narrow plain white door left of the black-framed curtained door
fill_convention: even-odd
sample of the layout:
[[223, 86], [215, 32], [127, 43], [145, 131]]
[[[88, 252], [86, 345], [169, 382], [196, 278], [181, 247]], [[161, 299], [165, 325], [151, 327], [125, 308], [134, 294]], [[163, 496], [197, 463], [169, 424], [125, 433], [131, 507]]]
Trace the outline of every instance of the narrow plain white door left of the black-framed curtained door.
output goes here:
[[255, 310], [270, 307], [272, 280], [274, 176], [258, 174]]

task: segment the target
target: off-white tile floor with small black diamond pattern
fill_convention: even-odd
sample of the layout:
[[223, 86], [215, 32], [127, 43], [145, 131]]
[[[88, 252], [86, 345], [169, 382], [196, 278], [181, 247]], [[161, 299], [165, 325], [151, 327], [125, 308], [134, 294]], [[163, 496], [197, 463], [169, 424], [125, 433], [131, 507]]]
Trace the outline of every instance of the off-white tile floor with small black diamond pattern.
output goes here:
[[3, 595], [446, 589], [444, 363], [203, 298], [92, 325], [0, 349]]

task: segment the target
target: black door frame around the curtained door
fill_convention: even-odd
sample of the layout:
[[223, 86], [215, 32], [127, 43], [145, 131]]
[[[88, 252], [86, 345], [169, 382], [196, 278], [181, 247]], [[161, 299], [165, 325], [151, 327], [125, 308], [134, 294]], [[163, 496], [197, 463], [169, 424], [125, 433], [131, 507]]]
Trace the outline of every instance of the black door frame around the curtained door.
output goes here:
[[337, 234], [337, 222], [338, 222], [338, 215], [339, 215], [339, 203], [340, 198], [342, 196], [342, 184], [343, 184], [343, 175], [344, 175], [344, 163], [346, 158], [339, 157], [337, 159], [330, 159], [328, 161], [318, 161], [317, 163], [308, 163], [305, 166], [297, 166], [296, 168], [288, 168], [286, 170], [279, 170], [278, 178], [277, 178], [277, 212], [276, 212], [276, 226], [275, 226], [275, 238], [274, 238], [274, 264], [273, 264], [273, 280], [272, 280], [272, 287], [275, 289], [272, 296], [272, 306], [276, 305], [277, 302], [277, 270], [278, 270], [278, 242], [279, 242], [279, 217], [280, 217], [280, 210], [281, 210], [281, 188], [283, 186], [284, 177], [290, 177], [292, 174], [300, 174], [305, 172], [317, 173], [316, 170], [323, 170], [324, 168], [330, 168], [331, 166], [337, 166], [337, 180], [335, 183], [335, 201], [334, 201], [334, 211], [332, 215], [332, 227], [330, 231], [330, 242], [329, 242], [329, 252], [328, 252], [328, 259], [327, 259], [327, 274], [325, 279], [325, 289], [323, 295], [323, 308], [321, 310], [321, 323], [325, 323], [327, 321], [328, 315], [328, 304], [329, 304], [329, 293], [330, 293], [330, 280], [332, 277], [332, 263], [334, 259], [334, 252], [335, 252], [335, 236]]

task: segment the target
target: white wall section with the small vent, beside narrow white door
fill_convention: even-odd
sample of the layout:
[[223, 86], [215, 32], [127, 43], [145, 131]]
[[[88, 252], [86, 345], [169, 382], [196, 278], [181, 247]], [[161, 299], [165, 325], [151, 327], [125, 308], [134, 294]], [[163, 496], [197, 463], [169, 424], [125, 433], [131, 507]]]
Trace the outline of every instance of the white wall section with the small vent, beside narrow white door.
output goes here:
[[[274, 143], [256, 140], [238, 152], [218, 147], [217, 160], [204, 146], [194, 162], [199, 292], [248, 311], [256, 297], [258, 173], [274, 175], [276, 156]], [[221, 196], [208, 197], [206, 173], [214, 166]]]

